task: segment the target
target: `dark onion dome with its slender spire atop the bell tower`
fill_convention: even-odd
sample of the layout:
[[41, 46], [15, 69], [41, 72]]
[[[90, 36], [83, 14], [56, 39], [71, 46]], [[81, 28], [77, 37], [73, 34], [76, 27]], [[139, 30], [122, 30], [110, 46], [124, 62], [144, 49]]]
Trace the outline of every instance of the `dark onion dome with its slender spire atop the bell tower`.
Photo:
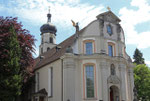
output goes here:
[[50, 12], [47, 14], [47, 23], [42, 25], [41, 28], [40, 28], [40, 31], [41, 33], [52, 33], [52, 34], [55, 34], [56, 35], [56, 32], [57, 32], [57, 28], [55, 27], [55, 25], [53, 25], [51, 23], [51, 14]]

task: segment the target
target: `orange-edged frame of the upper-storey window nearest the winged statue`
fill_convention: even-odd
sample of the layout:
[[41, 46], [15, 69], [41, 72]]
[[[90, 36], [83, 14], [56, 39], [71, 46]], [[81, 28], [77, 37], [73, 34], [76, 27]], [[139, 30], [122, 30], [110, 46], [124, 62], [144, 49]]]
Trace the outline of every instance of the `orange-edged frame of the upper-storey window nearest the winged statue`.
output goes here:
[[96, 49], [95, 49], [95, 40], [89, 39], [89, 40], [84, 40], [83, 41], [83, 53], [86, 55], [92, 55], [92, 54], [87, 54], [86, 53], [86, 43], [92, 43], [92, 54], [95, 53]]

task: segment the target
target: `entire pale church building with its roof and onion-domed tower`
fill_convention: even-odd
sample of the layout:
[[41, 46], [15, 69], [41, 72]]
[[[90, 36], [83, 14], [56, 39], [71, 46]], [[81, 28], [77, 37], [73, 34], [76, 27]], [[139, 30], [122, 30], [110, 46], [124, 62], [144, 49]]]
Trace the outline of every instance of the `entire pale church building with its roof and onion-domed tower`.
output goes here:
[[56, 44], [56, 27], [41, 27], [32, 101], [133, 101], [133, 64], [120, 19], [107, 11]]

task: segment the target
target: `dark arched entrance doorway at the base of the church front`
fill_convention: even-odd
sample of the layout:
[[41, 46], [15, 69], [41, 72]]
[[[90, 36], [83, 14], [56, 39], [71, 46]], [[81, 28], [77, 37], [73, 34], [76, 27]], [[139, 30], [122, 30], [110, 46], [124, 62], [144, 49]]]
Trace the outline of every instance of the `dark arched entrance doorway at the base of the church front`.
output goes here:
[[119, 97], [119, 89], [116, 86], [111, 86], [110, 87], [110, 101], [120, 101]]

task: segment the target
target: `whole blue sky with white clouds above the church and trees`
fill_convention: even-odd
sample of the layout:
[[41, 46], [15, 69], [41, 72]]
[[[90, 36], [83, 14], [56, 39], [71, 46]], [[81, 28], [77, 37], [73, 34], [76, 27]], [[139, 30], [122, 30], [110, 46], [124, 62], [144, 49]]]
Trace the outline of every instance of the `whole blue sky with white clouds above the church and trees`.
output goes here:
[[129, 56], [133, 58], [138, 48], [150, 66], [150, 0], [0, 0], [0, 16], [18, 17], [23, 28], [37, 39], [35, 57], [39, 54], [40, 27], [47, 22], [49, 6], [52, 23], [57, 27], [57, 44], [75, 33], [71, 19], [79, 22], [82, 29], [109, 6], [121, 19]]

